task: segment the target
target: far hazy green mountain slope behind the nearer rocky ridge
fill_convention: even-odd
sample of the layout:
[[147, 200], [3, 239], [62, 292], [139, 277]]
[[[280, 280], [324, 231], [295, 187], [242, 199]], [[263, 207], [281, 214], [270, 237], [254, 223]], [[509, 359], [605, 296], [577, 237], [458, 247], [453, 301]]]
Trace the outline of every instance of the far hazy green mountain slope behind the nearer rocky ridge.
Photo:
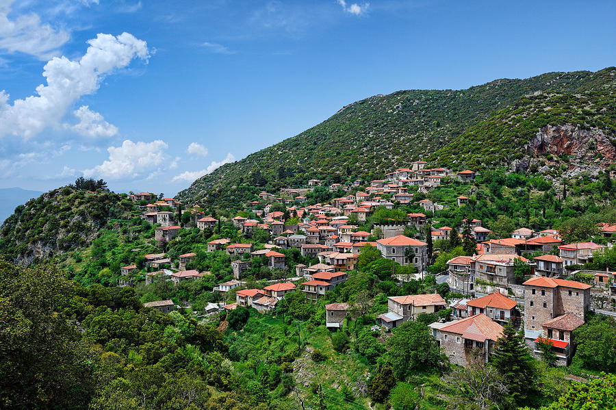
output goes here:
[[547, 73], [529, 79], [500, 79], [467, 90], [407, 90], [370, 97], [298, 136], [218, 168], [177, 197], [231, 206], [260, 188], [298, 186], [314, 177], [335, 182], [347, 177], [381, 177], [435, 153], [524, 95], [537, 90], [609, 93], [616, 83], [615, 73], [616, 68], [597, 73]]

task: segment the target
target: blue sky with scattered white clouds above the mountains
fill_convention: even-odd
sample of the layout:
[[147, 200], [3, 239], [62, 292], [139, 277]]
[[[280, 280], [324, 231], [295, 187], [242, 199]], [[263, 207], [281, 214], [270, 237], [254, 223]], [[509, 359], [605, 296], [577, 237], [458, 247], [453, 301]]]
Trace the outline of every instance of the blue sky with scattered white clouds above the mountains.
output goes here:
[[173, 195], [405, 89], [616, 64], [614, 1], [0, 0], [0, 188]]

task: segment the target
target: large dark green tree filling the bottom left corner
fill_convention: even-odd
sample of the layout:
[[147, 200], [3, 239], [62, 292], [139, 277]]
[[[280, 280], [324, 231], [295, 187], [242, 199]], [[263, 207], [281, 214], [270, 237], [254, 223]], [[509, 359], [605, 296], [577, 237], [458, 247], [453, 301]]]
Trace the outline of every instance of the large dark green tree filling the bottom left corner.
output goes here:
[[51, 266], [0, 259], [0, 407], [86, 409], [94, 362], [69, 322], [74, 285]]

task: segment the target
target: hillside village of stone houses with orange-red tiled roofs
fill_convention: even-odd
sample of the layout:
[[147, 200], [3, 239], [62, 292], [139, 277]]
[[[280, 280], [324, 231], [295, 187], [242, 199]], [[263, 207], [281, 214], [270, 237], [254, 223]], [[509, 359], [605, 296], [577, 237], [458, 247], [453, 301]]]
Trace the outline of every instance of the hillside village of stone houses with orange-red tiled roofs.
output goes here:
[[[471, 170], [452, 173], [445, 168], [427, 169], [426, 162], [419, 161], [411, 168], [399, 168], [385, 179], [370, 181], [363, 190], [333, 198], [329, 203], [305, 205], [307, 192], [320, 186], [316, 179], [308, 181], [308, 188], [285, 188], [278, 195], [261, 192], [259, 201], [246, 204], [246, 210], [256, 218], [238, 215], [227, 221], [247, 239], [246, 243], [233, 243], [229, 238], [207, 242], [208, 253], [229, 255], [233, 279], [214, 287], [212, 292], [218, 294], [220, 302], [208, 303], [205, 311], [215, 313], [245, 306], [268, 313], [281, 303], [287, 292], [296, 290], [305, 294], [305, 303], [317, 303], [326, 292], [348, 279], [361, 253], [370, 248], [376, 248], [384, 259], [392, 260], [392, 271], [394, 264], [412, 269], [411, 274], [395, 275], [396, 281], [423, 278], [428, 275], [433, 258], [432, 249], [428, 248], [434, 242], [449, 241], [452, 235], [465, 240], [463, 233], [447, 226], [437, 227], [439, 222], [431, 218], [435, 211], [444, 209], [442, 205], [424, 198], [414, 203], [424, 209], [423, 213], [409, 213], [403, 221], [375, 224], [370, 232], [359, 229], [358, 223], [377, 209], [392, 210], [400, 204], [413, 203], [417, 192], [428, 192], [439, 186], [443, 178], [469, 183], [474, 177], [475, 172]], [[361, 181], [353, 185], [361, 188]], [[413, 185], [416, 188], [411, 188]], [[331, 191], [351, 188], [340, 184], [327, 187]], [[183, 205], [172, 198], [157, 198], [147, 192], [129, 197], [141, 204], [138, 207], [143, 212], [142, 218], [157, 226], [158, 242], [168, 243], [179, 235], [178, 211], [182, 220], [188, 220], [185, 217], [188, 215], [201, 231], [220, 228], [221, 221], [206, 215], [200, 207]], [[457, 206], [465, 206], [468, 200], [467, 196], [459, 196]], [[272, 210], [281, 203], [286, 205], [284, 211]], [[477, 352], [487, 362], [502, 335], [503, 325], [511, 322], [515, 329], [524, 331], [532, 355], [539, 358], [541, 353], [537, 342], [550, 343], [557, 364], [567, 366], [574, 352], [572, 332], [585, 323], [591, 305], [597, 305], [591, 304], [591, 294], [593, 300], [609, 300], [616, 292], [613, 286], [616, 273], [585, 272], [582, 277], [587, 280], [581, 282], [572, 280], [580, 271], [565, 268], [582, 266], [606, 246], [592, 242], [564, 243], [559, 231], [554, 229], [535, 232], [520, 227], [511, 232], [511, 238], [489, 239], [492, 231], [482, 227], [481, 220], [468, 218], [463, 220], [463, 226], [475, 244], [472, 255], [453, 257], [447, 261], [446, 271], [438, 272], [441, 283], [449, 287], [448, 294], [459, 297], [446, 300], [439, 293], [389, 296], [387, 311], [376, 316], [374, 329], [389, 332], [409, 320], [418, 320], [422, 313], [450, 309], [450, 316], [429, 327], [452, 363], [467, 366], [471, 355]], [[600, 229], [606, 238], [616, 233], [613, 225], [603, 224]], [[257, 231], [266, 233], [259, 237], [266, 238], [264, 243], [255, 242]], [[404, 235], [409, 231], [412, 236]], [[295, 264], [290, 270], [282, 251], [293, 248], [314, 263]], [[195, 257], [196, 253], [179, 255], [177, 260], [171, 260], [164, 252], [144, 255], [149, 268], [146, 284], [157, 278], [173, 283], [202, 278], [208, 272], [187, 268]], [[255, 259], [279, 275], [266, 281], [263, 287], [246, 288], [244, 273]], [[523, 281], [515, 277], [515, 267], [519, 264], [527, 266], [529, 272]], [[281, 274], [285, 268], [287, 274]], [[137, 266], [124, 266], [123, 283], [129, 283], [136, 272]], [[172, 300], [144, 306], [165, 313], [177, 308]], [[326, 327], [332, 331], [341, 328], [352, 316], [348, 303], [329, 303], [325, 309]]]

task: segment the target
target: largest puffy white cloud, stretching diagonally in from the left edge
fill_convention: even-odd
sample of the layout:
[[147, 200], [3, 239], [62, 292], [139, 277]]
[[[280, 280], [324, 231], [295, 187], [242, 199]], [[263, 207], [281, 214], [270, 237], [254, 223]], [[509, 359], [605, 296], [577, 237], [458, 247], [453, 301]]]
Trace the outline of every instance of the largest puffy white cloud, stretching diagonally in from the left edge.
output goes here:
[[[1, 1], [1, 0], [0, 0]], [[84, 95], [98, 90], [101, 79], [134, 58], [147, 61], [146, 42], [132, 34], [97, 34], [88, 40], [88, 50], [79, 60], [53, 57], [44, 66], [47, 85], [36, 87], [36, 94], [8, 103], [8, 94], [0, 91], [0, 138], [5, 135], [31, 138], [47, 127], [54, 127], [68, 107]]]

